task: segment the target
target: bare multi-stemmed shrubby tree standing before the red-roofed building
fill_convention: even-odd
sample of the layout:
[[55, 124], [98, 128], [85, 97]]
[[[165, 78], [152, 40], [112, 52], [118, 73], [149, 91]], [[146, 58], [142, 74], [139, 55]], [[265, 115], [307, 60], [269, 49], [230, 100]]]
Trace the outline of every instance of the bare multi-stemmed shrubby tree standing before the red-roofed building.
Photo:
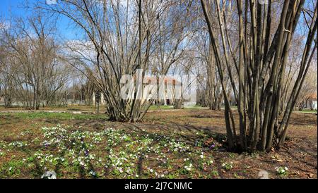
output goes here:
[[111, 120], [135, 122], [143, 118], [152, 101], [136, 99], [142, 87], [134, 88], [135, 99], [122, 99], [120, 91], [126, 82], [121, 77], [134, 76], [137, 69], [143, 69], [144, 77], [158, 63], [160, 68], [153, 73], [167, 73], [182, 54], [183, 40], [191, 34], [187, 27], [191, 2], [74, 0], [53, 6], [38, 3], [35, 8], [64, 15], [83, 31], [86, 39], [68, 44], [66, 62], [104, 94]]

